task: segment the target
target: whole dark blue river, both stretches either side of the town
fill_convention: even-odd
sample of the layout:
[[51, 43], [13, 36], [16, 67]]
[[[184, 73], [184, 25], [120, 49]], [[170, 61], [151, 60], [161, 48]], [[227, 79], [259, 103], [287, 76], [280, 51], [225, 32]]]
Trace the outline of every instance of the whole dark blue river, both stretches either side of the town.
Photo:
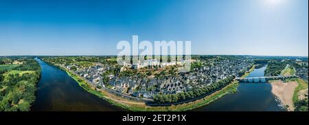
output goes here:
[[[85, 91], [67, 72], [36, 59], [42, 68], [32, 111], [126, 111]], [[248, 77], [262, 77], [266, 67]], [[193, 111], [285, 111], [271, 93], [269, 83], [240, 83], [238, 92], [227, 94]]]

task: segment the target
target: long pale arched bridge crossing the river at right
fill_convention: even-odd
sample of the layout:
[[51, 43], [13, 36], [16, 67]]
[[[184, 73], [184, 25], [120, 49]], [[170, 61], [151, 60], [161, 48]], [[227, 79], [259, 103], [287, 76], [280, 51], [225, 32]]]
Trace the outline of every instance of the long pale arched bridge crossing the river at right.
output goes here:
[[291, 79], [291, 78], [298, 78], [298, 76], [293, 75], [293, 76], [275, 76], [275, 77], [246, 77], [246, 78], [241, 78], [241, 77], [236, 77], [237, 81], [242, 81], [245, 83], [260, 83], [260, 82], [266, 82], [268, 80], [277, 80], [277, 79]]

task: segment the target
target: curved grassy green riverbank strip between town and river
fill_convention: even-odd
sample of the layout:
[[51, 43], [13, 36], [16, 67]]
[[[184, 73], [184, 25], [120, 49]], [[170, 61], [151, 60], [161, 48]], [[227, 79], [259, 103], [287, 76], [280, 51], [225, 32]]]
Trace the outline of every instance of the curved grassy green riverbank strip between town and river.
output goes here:
[[[222, 89], [210, 94], [209, 96], [205, 96], [204, 98], [194, 100], [192, 102], [185, 102], [180, 105], [171, 105], [171, 106], [164, 106], [164, 107], [151, 107], [146, 105], [145, 102], [137, 102], [133, 100], [128, 100], [126, 98], [122, 98], [120, 96], [117, 96], [115, 94], [111, 94], [110, 92], [105, 91], [104, 89], [97, 89], [95, 87], [92, 87], [87, 83], [87, 81], [84, 81], [80, 76], [77, 76], [73, 74], [73, 72], [61, 68], [62, 70], [65, 70], [67, 74], [69, 74], [70, 77], [72, 77], [75, 81], [78, 82], [78, 85], [80, 85], [82, 88], [87, 90], [87, 92], [90, 92], [91, 94], [95, 94], [96, 96], [103, 98], [110, 102], [112, 105], [116, 105], [118, 107], [122, 107], [124, 109], [128, 109], [130, 111], [187, 111], [196, 109], [198, 107], [205, 106], [214, 100], [224, 96], [225, 94], [234, 93], [237, 91], [237, 87], [239, 85], [238, 81], [233, 81], [226, 87], [222, 87]], [[254, 66], [246, 72], [242, 77], [246, 77], [250, 72], [254, 70]]]

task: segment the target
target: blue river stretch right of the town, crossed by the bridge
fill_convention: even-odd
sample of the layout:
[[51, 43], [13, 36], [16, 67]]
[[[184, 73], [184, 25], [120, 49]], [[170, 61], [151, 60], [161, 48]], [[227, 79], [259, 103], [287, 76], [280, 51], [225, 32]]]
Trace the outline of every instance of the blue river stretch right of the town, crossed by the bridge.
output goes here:
[[[248, 77], [263, 77], [265, 69], [266, 66], [255, 69]], [[240, 83], [236, 93], [193, 111], [286, 111], [279, 105], [270, 83]]]

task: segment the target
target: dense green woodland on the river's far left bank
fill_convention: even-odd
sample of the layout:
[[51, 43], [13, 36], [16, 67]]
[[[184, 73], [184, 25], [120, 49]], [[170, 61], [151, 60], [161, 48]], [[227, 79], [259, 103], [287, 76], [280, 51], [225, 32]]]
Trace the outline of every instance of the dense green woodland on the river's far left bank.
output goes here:
[[29, 111], [35, 101], [41, 67], [34, 59], [12, 70], [0, 71], [0, 111]]

